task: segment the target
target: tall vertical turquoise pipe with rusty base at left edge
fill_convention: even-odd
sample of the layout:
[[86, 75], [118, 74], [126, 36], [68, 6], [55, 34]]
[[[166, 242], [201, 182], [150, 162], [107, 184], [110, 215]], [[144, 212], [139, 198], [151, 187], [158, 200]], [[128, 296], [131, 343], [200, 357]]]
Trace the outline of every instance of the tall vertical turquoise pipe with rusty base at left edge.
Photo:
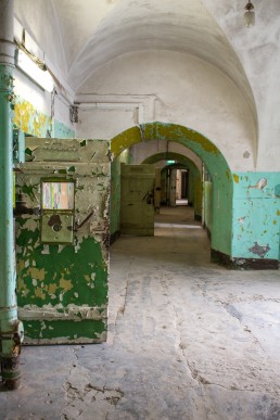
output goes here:
[[0, 362], [4, 386], [20, 385], [23, 335], [17, 319], [13, 245], [13, 0], [0, 0]]

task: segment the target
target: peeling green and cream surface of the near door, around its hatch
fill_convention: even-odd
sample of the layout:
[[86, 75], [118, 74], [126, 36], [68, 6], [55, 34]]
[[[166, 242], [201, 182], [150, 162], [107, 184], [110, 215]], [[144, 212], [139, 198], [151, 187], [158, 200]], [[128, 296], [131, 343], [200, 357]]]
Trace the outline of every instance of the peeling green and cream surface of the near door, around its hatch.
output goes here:
[[[78, 184], [75, 191], [76, 214], [79, 215], [77, 218], [80, 217], [78, 224], [85, 220], [91, 208], [94, 217], [75, 231], [73, 245], [42, 243], [40, 216], [16, 218], [17, 301], [27, 331], [26, 342], [72, 342], [75, 336], [77, 342], [100, 342], [105, 340], [106, 332], [109, 143], [87, 140], [89, 153], [87, 148], [78, 150], [86, 153], [84, 158], [88, 161], [92, 160], [94, 151], [96, 162], [80, 163], [80, 156], [74, 151], [79, 144], [77, 140], [30, 138], [28, 142], [34, 161], [18, 165], [21, 170], [16, 173], [16, 188], [24, 192], [27, 206], [33, 208], [41, 203], [42, 179], [69, 179]], [[74, 151], [78, 163], [68, 166], [63, 161], [43, 162], [44, 151], [48, 156], [52, 152], [56, 157], [58, 148], [60, 157], [63, 157], [64, 150], [66, 156], [68, 150]], [[98, 176], [92, 177], [92, 168]], [[61, 319], [58, 318], [60, 313]], [[39, 321], [42, 314], [43, 320]], [[100, 314], [102, 319], [97, 323]], [[64, 320], [68, 322], [65, 330], [62, 327]], [[43, 322], [49, 327], [44, 328]]]

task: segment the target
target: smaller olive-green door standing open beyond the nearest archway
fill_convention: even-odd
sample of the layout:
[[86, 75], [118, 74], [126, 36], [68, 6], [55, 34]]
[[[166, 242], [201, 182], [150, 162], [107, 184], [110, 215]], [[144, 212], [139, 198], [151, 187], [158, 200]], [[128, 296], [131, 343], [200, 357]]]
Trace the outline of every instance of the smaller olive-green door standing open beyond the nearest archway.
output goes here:
[[122, 165], [122, 234], [154, 234], [154, 183], [152, 165]]

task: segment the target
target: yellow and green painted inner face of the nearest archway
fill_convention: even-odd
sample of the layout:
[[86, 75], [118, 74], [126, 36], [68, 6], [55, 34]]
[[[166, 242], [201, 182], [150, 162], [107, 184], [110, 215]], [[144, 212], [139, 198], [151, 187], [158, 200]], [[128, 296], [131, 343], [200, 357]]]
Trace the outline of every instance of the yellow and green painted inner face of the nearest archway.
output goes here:
[[[170, 140], [193, 151], [205, 164], [213, 181], [212, 255], [231, 256], [232, 239], [232, 177], [230, 168], [217, 147], [203, 135], [188, 127], [149, 123], [131, 127], [111, 140], [111, 151], [118, 156], [126, 149], [150, 140]], [[117, 211], [117, 191], [112, 190], [112, 217]], [[111, 232], [114, 234], [114, 232]]]

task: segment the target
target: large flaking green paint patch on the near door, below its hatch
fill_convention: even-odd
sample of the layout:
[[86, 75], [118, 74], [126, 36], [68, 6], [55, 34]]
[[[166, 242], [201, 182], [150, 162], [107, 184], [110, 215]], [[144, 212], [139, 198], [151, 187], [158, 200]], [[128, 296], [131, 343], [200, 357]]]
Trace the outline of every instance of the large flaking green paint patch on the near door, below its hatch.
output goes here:
[[[18, 246], [21, 243], [28, 244], [27, 249], [23, 246], [17, 250], [20, 306], [36, 304], [42, 307], [49, 303], [51, 305], [62, 303], [65, 306], [71, 303], [92, 305], [92, 302], [101, 305], [106, 302], [107, 269], [102, 264], [100, 243], [87, 238], [79, 244], [78, 252], [75, 252], [72, 245], [66, 245], [62, 252], [59, 252], [59, 245], [49, 245], [49, 254], [42, 254], [46, 245], [39, 242], [39, 229], [36, 232], [23, 229], [17, 238]], [[36, 262], [36, 267], [29, 266], [31, 262]], [[85, 281], [85, 276], [91, 279], [92, 271], [94, 280]], [[37, 296], [30, 296], [34, 278], [43, 282], [43, 285], [37, 288], [40, 288]], [[76, 297], [75, 293], [78, 293], [79, 297]]]

